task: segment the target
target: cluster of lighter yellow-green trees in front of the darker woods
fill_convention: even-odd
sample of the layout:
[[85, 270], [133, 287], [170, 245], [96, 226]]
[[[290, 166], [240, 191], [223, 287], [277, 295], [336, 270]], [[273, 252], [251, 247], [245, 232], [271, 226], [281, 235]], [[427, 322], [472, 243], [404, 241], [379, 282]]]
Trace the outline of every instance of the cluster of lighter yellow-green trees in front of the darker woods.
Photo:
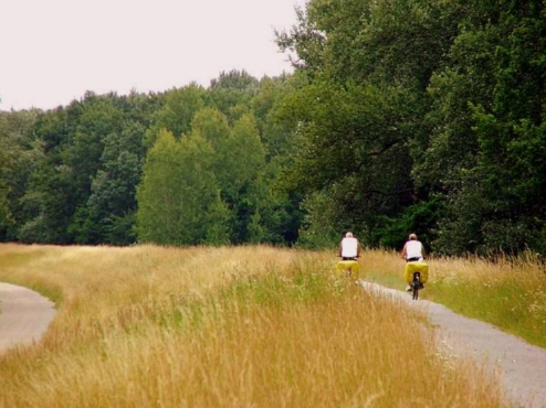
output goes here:
[[[235, 240], [244, 237], [241, 229], [252, 222], [243, 217], [243, 225], [233, 225], [265, 164], [253, 117], [243, 116], [230, 128], [222, 114], [207, 108], [192, 125], [191, 133], [178, 141], [160, 131], [148, 153], [138, 187], [140, 240], [221, 245], [233, 239], [233, 228]], [[256, 214], [250, 205], [250, 214]]]

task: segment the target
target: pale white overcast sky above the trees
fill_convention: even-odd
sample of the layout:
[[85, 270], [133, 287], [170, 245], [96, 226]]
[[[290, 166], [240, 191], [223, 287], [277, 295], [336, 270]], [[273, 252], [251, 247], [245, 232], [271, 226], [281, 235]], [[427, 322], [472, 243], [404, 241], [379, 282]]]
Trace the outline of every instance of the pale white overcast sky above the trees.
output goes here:
[[222, 71], [291, 72], [274, 43], [305, 0], [0, 0], [0, 110], [86, 90], [162, 92]]

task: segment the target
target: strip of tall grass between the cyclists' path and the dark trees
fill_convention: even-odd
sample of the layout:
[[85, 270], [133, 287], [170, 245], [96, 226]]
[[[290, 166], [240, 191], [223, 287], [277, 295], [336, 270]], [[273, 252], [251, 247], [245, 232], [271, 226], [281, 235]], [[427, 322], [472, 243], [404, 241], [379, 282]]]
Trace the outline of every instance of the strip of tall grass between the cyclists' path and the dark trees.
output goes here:
[[[402, 289], [405, 264], [398, 254], [374, 250], [364, 258], [369, 279]], [[423, 298], [546, 347], [546, 269], [542, 259], [524, 255], [494, 261], [479, 257], [427, 261], [430, 277], [421, 291]]]

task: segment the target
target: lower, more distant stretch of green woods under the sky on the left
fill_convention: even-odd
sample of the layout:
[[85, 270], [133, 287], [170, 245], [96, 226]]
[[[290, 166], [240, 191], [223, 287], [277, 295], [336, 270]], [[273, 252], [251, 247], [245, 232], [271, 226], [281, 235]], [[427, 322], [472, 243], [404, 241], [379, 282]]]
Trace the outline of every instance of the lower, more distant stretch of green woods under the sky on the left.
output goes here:
[[298, 201], [272, 189], [292, 129], [273, 108], [291, 87], [231, 72], [0, 112], [0, 240], [293, 244]]

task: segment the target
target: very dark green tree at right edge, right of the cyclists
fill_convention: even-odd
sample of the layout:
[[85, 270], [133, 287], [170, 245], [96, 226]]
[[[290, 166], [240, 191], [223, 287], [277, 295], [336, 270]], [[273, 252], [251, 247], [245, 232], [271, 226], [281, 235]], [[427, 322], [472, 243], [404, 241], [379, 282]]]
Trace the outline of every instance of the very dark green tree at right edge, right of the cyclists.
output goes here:
[[447, 202], [435, 247], [544, 251], [544, 8], [473, 6], [432, 82], [433, 130], [416, 167]]

